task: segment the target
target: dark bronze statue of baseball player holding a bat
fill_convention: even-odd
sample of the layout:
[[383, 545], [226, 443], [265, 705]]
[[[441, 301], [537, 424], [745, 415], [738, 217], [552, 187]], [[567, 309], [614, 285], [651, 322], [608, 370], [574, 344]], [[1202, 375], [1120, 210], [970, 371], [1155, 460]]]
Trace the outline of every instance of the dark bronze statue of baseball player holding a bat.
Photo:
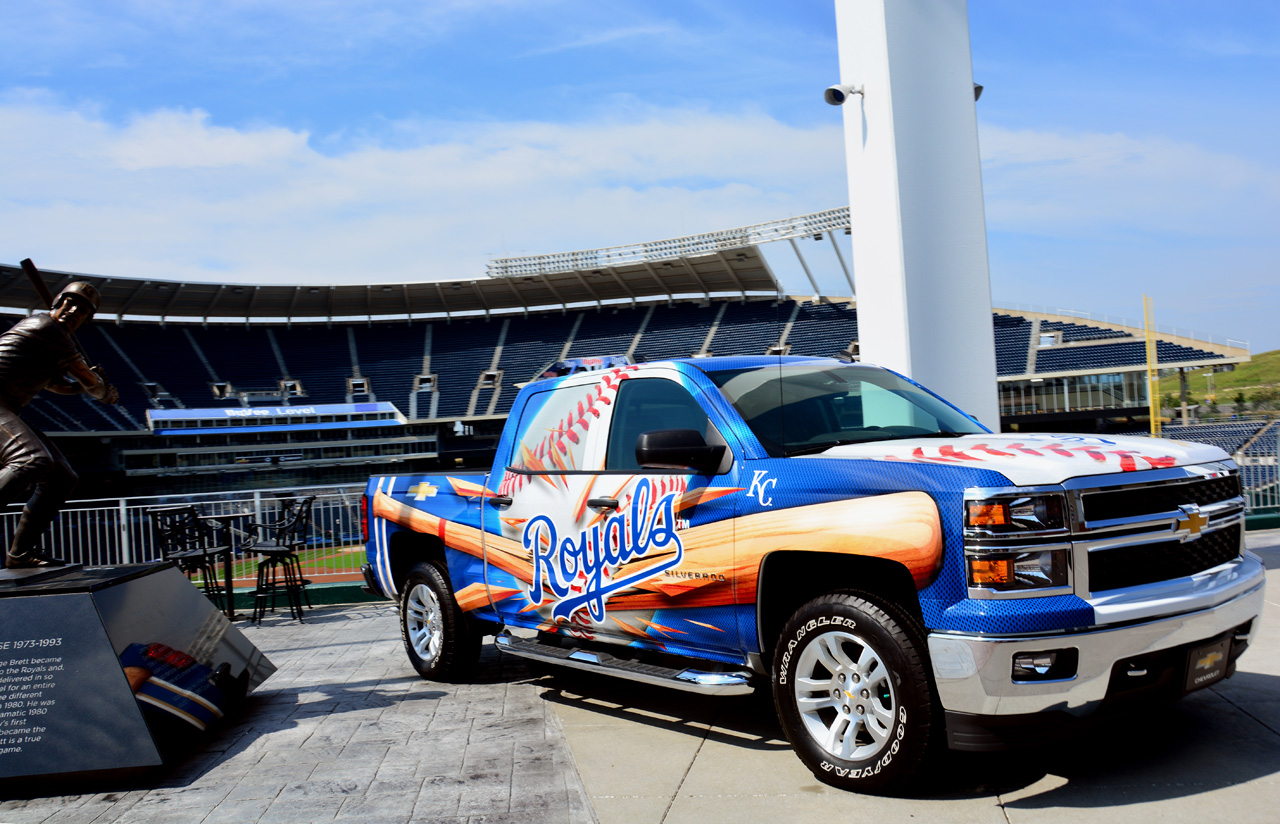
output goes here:
[[97, 311], [99, 299], [92, 284], [78, 280], [58, 293], [47, 315], [24, 317], [0, 335], [0, 505], [31, 494], [8, 548], [10, 569], [63, 564], [37, 544], [78, 480], [58, 447], [19, 417], [22, 408], [42, 389], [63, 395], [84, 392], [102, 403], [120, 399], [74, 338]]

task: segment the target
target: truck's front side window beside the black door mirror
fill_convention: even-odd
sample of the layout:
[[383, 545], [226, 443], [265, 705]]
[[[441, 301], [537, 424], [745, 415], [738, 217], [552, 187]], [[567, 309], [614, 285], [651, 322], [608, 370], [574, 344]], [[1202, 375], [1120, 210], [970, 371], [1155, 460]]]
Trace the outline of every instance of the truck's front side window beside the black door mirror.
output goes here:
[[655, 429], [694, 429], [705, 438], [710, 421], [689, 390], [673, 380], [635, 377], [618, 386], [609, 426], [605, 470], [640, 470], [636, 439]]

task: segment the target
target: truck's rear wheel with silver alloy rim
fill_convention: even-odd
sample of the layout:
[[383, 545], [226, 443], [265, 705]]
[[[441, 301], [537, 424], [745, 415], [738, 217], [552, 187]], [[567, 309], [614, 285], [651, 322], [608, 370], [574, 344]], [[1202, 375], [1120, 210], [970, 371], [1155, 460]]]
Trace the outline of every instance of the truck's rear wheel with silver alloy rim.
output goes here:
[[458, 608], [444, 573], [434, 563], [415, 566], [401, 592], [401, 637], [417, 674], [460, 681], [480, 658], [480, 633]]

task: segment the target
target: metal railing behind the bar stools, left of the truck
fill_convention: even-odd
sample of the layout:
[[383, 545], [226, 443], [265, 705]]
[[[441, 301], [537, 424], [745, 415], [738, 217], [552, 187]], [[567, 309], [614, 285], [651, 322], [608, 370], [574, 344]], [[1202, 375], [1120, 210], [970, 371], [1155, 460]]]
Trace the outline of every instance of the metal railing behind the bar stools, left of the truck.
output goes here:
[[[317, 583], [353, 581], [361, 578], [360, 566], [365, 560], [365, 546], [360, 537], [360, 495], [364, 490], [364, 484], [360, 484], [73, 500], [68, 502], [45, 534], [42, 546], [56, 558], [90, 566], [161, 560], [164, 554], [147, 511], [196, 504], [204, 514], [243, 516], [228, 518], [227, 528], [234, 545], [246, 546], [241, 554], [243, 563], [237, 566], [236, 577], [251, 578], [255, 573], [251, 541], [256, 530], [247, 523], [270, 523], [278, 518], [283, 500], [315, 495], [307, 545], [300, 555], [303, 573]], [[5, 546], [13, 540], [20, 513], [20, 505], [8, 507], [0, 513], [0, 536]]]

